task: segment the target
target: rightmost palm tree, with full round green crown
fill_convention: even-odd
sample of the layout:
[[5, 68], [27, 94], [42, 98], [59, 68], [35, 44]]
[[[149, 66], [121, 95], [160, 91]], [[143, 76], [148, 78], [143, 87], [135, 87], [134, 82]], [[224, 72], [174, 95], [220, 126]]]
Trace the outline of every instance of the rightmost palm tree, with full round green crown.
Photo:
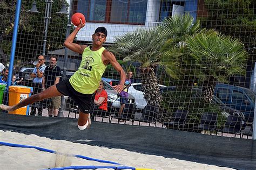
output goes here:
[[242, 42], [216, 31], [201, 31], [186, 39], [188, 54], [194, 62], [193, 74], [203, 82], [206, 103], [212, 100], [216, 82], [245, 74], [247, 53]]

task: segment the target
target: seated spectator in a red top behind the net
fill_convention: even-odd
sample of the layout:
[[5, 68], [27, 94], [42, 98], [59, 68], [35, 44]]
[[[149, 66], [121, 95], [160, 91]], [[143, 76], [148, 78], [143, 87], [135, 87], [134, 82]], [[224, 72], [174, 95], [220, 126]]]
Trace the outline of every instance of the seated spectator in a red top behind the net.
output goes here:
[[99, 105], [99, 109], [107, 111], [107, 92], [104, 90], [103, 81], [99, 82], [99, 88], [95, 92], [94, 103]]

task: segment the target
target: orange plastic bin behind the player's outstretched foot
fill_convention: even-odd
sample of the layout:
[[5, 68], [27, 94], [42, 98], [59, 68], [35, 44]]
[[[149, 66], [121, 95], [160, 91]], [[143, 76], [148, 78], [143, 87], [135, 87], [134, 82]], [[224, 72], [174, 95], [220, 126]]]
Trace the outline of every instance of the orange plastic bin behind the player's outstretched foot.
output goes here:
[[[25, 98], [28, 98], [31, 95], [31, 88], [24, 87], [24, 86], [9, 86], [9, 105], [15, 105]], [[9, 111], [9, 114], [16, 114], [16, 115], [26, 115], [28, 112], [29, 106], [26, 105], [25, 107], [19, 108], [14, 111]]]

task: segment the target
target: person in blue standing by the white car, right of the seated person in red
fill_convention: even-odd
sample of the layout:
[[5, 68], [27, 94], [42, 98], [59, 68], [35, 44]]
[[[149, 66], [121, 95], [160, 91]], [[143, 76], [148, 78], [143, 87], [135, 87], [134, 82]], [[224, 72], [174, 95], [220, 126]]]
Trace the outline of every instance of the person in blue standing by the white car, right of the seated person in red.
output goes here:
[[128, 88], [131, 86], [131, 83], [132, 83], [132, 80], [131, 80], [132, 74], [133, 73], [131, 71], [127, 72], [125, 83], [124, 83], [124, 90], [120, 93], [120, 104], [121, 105], [120, 105], [118, 116], [121, 116], [121, 114], [124, 110], [125, 104], [127, 103], [128, 95], [129, 95]]

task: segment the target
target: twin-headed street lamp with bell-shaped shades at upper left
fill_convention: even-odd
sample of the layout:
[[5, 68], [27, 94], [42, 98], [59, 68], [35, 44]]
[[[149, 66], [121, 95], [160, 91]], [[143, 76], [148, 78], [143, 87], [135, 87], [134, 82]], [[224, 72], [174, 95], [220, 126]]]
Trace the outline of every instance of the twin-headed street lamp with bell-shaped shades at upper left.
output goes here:
[[[45, 0], [45, 15], [44, 15], [44, 23], [45, 23], [45, 30], [44, 30], [44, 44], [43, 44], [43, 53], [42, 55], [45, 56], [45, 47], [46, 47], [46, 39], [47, 39], [47, 33], [48, 33], [48, 24], [51, 21], [51, 8], [52, 8], [52, 0]], [[30, 10], [28, 10], [27, 12], [33, 12], [33, 13], [41, 13], [39, 11], [37, 11], [36, 8], [36, 1], [33, 1], [32, 3], [32, 8]], [[59, 14], [64, 14], [64, 15], [68, 15], [68, 11], [66, 10], [66, 4], [63, 1], [62, 3], [62, 9], [60, 9], [59, 12], [56, 12]]]

